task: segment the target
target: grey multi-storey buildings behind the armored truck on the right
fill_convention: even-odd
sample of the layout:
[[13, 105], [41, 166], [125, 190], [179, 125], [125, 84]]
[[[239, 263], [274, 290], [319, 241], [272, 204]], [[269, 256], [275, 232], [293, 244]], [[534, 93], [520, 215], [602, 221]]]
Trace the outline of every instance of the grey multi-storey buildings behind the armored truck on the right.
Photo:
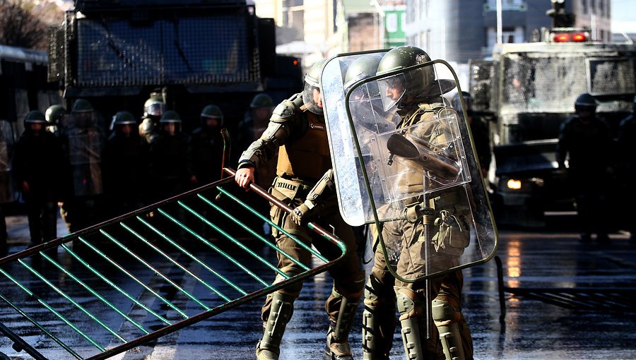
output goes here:
[[[433, 58], [466, 64], [490, 56], [498, 41], [529, 42], [552, 26], [549, 0], [500, 0], [501, 16], [497, 2], [406, 0], [406, 43]], [[611, 40], [609, 0], [566, 0], [565, 11], [574, 14], [576, 27], [591, 30], [593, 40]]]

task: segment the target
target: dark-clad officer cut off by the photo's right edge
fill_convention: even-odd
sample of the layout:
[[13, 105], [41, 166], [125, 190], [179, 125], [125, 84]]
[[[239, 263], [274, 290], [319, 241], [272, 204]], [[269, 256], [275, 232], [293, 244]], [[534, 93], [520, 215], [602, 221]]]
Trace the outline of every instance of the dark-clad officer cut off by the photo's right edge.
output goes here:
[[633, 100], [632, 114], [629, 114], [618, 126], [619, 175], [623, 191], [628, 195], [628, 211], [625, 217], [630, 241], [636, 243], [636, 96]]

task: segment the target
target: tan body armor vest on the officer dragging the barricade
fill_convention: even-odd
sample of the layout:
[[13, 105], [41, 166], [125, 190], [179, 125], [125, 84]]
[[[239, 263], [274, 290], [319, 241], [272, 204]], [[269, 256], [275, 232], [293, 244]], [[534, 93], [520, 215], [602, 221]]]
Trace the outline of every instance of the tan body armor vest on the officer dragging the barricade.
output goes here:
[[300, 116], [307, 119], [309, 126], [304, 136], [288, 140], [278, 150], [276, 175], [317, 181], [331, 168], [326, 126], [322, 116], [307, 111], [304, 107], [301, 110]]

